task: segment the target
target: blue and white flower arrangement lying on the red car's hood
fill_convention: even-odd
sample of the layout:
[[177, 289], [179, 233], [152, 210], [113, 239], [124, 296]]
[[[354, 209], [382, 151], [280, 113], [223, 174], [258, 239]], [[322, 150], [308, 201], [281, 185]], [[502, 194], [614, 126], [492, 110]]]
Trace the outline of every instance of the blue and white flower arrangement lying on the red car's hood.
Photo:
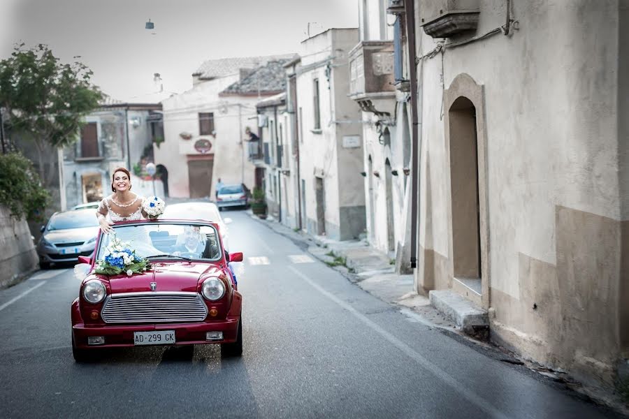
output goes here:
[[149, 269], [147, 259], [136, 256], [136, 251], [131, 249], [129, 243], [122, 242], [117, 237], [112, 237], [111, 242], [105, 248], [104, 258], [96, 261], [96, 274], [120, 275], [141, 274]]

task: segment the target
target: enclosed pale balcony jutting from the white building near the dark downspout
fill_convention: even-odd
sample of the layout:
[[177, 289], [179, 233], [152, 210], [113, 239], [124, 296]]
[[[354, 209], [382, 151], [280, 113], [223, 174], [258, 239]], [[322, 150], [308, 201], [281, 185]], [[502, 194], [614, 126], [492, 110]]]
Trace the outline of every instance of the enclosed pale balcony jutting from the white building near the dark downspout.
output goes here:
[[393, 41], [362, 41], [349, 52], [349, 98], [363, 112], [391, 117], [396, 88]]

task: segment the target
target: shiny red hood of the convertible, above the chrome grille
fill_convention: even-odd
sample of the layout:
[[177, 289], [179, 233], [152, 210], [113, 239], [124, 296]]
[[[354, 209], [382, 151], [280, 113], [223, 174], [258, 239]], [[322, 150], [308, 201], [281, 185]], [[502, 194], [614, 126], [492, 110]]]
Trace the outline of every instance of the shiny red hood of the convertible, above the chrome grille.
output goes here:
[[118, 275], [108, 278], [110, 289], [115, 293], [138, 293], [153, 291], [151, 282], [156, 284], [154, 291], [196, 292], [198, 279], [206, 274], [221, 272], [217, 265], [210, 263], [152, 263], [152, 270], [131, 277]]

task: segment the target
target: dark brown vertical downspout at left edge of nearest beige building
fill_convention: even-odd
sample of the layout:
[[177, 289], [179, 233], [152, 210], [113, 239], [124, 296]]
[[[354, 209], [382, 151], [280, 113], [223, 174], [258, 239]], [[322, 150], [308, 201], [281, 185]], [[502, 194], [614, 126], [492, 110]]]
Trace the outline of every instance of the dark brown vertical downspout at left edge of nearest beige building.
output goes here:
[[[421, 97], [418, 95], [417, 67], [415, 61], [415, 4], [414, 0], [405, 0], [406, 39], [408, 45], [408, 67], [410, 73], [411, 119], [412, 119], [412, 169], [411, 169], [411, 249], [410, 266], [417, 268], [417, 210], [419, 207], [419, 147], [421, 147], [421, 131], [419, 130], [418, 107]], [[419, 102], [419, 104], [418, 104]]]

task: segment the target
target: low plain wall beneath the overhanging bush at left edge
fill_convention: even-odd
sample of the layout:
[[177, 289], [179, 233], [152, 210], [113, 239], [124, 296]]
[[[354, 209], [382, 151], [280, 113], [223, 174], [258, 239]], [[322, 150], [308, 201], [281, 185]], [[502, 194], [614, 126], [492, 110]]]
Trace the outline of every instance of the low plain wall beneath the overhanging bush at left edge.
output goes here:
[[35, 245], [26, 221], [15, 221], [9, 210], [0, 206], [0, 289], [20, 281], [38, 268]]

